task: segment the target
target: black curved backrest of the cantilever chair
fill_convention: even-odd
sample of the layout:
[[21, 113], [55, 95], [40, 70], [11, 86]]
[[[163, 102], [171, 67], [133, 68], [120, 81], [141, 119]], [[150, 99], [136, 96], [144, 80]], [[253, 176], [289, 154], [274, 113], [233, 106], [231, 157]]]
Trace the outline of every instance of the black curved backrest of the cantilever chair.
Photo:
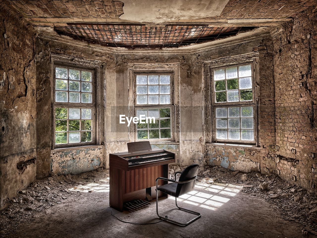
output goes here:
[[[198, 169], [199, 169], [198, 164], [192, 164], [192, 165], [188, 166], [186, 169], [184, 169], [184, 171], [180, 175], [178, 181], [184, 182], [184, 181], [191, 180], [191, 179], [195, 178], [197, 176]], [[189, 193], [192, 190], [194, 190], [195, 182], [196, 182], [196, 180], [193, 180], [193, 181], [188, 182], [188, 183], [178, 183], [177, 188], [176, 188], [176, 197], [179, 197], [183, 194]]]

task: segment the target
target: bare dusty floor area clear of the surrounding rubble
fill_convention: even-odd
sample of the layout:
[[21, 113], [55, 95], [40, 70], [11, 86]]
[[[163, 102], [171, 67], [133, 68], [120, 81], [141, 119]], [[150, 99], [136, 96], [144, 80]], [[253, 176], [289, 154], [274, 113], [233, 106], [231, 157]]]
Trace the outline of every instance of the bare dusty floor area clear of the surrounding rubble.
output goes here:
[[[21, 223], [6, 237], [302, 237], [300, 227], [281, 219], [272, 204], [249, 196], [230, 184], [198, 183], [195, 191], [179, 198], [179, 206], [196, 210], [202, 217], [187, 227], [168, 222], [133, 225], [118, 221], [110, 213], [109, 184], [96, 184], [93, 193], [79, 192]], [[174, 199], [159, 202], [162, 215], [177, 218]], [[156, 222], [155, 201], [137, 212], [117, 212], [130, 222]], [[191, 218], [181, 212], [181, 221]], [[260, 233], [261, 232], [261, 233]], [[263, 234], [262, 234], [263, 233]]]

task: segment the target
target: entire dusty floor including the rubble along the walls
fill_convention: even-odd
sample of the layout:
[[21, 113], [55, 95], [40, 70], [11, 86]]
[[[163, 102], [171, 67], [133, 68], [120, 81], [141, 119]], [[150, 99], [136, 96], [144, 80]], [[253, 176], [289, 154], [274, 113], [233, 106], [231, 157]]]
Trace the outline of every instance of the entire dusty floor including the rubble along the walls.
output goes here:
[[[274, 176], [234, 174], [223, 168], [209, 170], [200, 172], [195, 191], [178, 200], [179, 206], [202, 214], [200, 219], [185, 228], [165, 221], [151, 225], [118, 221], [109, 208], [108, 170], [100, 169], [81, 175], [53, 176], [50, 180], [33, 183], [2, 211], [0, 236], [316, 237], [313, 235], [316, 232], [314, 217], [309, 214], [316, 206], [315, 195], [297, 188], [300, 191], [282, 198], [279, 193], [285, 194], [295, 188], [286, 187], [287, 184]], [[212, 178], [209, 178], [208, 172], [213, 175]], [[263, 181], [268, 182], [268, 189], [262, 191], [258, 185]], [[278, 198], [270, 198], [273, 194], [277, 194]], [[294, 197], [301, 197], [301, 201], [294, 204]], [[173, 210], [174, 204], [172, 197], [160, 200], [162, 215], [181, 221], [192, 217]], [[304, 219], [301, 213], [307, 210], [308, 215]], [[129, 222], [159, 221], [155, 201], [149, 208], [137, 212], [120, 213], [113, 209], [112, 212]]]

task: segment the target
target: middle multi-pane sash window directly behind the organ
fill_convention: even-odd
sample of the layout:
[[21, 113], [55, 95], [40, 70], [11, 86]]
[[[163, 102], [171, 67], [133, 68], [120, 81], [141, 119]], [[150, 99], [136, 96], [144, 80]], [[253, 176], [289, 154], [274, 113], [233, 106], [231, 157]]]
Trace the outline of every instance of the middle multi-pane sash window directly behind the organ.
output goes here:
[[136, 74], [134, 108], [137, 117], [154, 117], [155, 122], [136, 125], [137, 140], [173, 139], [172, 74]]

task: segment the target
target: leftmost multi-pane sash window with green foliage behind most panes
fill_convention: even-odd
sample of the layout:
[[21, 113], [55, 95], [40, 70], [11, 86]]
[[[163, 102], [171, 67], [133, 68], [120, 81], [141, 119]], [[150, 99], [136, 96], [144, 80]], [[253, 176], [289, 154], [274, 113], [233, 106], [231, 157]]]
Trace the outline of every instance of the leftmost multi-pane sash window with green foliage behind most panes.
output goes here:
[[95, 143], [94, 70], [54, 65], [54, 147]]

